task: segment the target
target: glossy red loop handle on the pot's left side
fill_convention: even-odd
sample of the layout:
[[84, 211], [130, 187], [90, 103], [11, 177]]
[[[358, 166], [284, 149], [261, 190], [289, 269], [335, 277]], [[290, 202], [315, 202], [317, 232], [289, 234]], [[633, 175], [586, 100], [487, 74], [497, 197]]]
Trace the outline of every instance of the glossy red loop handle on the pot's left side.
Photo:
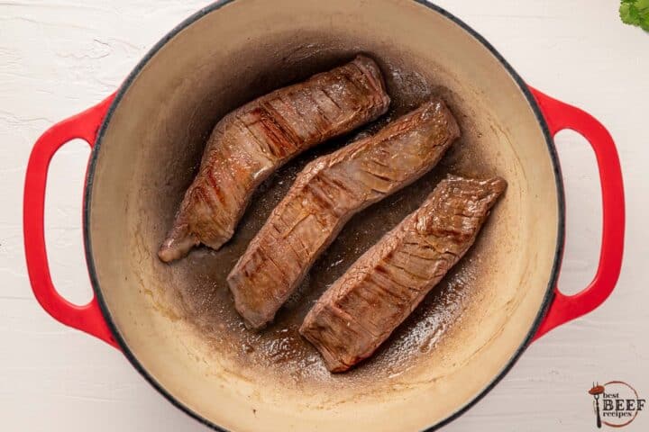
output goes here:
[[70, 139], [85, 139], [92, 147], [113, 99], [114, 94], [92, 108], [68, 120], [60, 121], [36, 141], [27, 164], [25, 178], [23, 234], [32, 291], [42, 308], [63, 324], [85, 331], [118, 348], [95, 296], [85, 306], [78, 306], [57, 293], [50, 277], [43, 227], [45, 186], [51, 158]]

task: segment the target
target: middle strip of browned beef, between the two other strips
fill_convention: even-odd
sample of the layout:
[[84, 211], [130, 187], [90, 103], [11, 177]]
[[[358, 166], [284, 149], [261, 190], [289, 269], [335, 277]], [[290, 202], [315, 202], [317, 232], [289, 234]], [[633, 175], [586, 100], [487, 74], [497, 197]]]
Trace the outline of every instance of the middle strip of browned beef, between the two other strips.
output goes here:
[[273, 320], [354, 213], [424, 175], [459, 135], [452, 113], [433, 100], [308, 164], [228, 275], [246, 325]]

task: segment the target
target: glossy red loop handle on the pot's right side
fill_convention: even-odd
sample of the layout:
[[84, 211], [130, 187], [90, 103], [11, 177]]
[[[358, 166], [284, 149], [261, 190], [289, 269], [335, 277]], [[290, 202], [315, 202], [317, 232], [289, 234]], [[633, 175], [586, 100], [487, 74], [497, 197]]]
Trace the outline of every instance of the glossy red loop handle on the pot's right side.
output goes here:
[[530, 87], [530, 90], [553, 136], [559, 130], [571, 129], [590, 142], [599, 167], [603, 215], [599, 266], [595, 277], [584, 290], [573, 295], [562, 294], [554, 288], [554, 300], [535, 334], [535, 340], [555, 327], [593, 311], [613, 292], [622, 266], [625, 200], [619, 157], [608, 130], [589, 113], [557, 101], [535, 88]]

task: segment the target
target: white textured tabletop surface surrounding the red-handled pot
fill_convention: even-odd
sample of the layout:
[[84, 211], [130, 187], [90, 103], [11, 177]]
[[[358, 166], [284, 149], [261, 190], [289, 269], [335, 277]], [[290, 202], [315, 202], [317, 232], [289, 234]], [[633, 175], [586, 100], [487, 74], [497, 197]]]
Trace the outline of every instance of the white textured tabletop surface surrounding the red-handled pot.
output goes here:
[[[41, 311], [27, 280], [21, 221], [35, 139], [113, 92], [163, 34], [207, 3], [0, 2], [1, 430], [207, 430], [114, 348]], [[528, 83], [607, 125], [622, 160], [627, 211], [626, 258], [608, 302], [537, 341], [485, 399], [443, 430], [595, 430], [586, 393], [593, 381], [623, 380], [649, 398], [649, 33], [620, 23], [617, 0], [437, 3], [482, 33]], [[568, 202], [561, 285], [574, 293], [597, 265], [599, 184], [583, 139], [562, 132], [557, 146]], [[59, 291], [78, 303], [91, 295], [80, 230], [87, 157], [82, 141], [63, 148], [47, 196], [51, 271]], [[649, 412], [625, 430], [649, 430]]]

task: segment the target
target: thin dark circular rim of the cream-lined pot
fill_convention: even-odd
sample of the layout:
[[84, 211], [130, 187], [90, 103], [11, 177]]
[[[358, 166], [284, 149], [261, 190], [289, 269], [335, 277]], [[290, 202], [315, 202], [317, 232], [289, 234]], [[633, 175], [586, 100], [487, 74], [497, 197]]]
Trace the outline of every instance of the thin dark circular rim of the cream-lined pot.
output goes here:
[[[200, 414], [198, 414], [196, 411], [190, 409], [186, 405], [184, 405], [182, 402], [178, 401], [171, 393], [169, 393], [158, 381], [156, 381], [151, 374], [147, 372], [147, 370], [144, 368], [144, 366], [139, 362], [136, 356], [134, 356], [133, 352], [131, 349], [128, 347], [126, 344], [125, 340], [123, 339], [122, 335], [119, 332], [119, 329], [117, 329], [113, 317], [111, 316], [110, 311], [108, 310], [107, 304], [105, 302], [104, 295], [101, 292], [101, 289], [99, 287], [99, 281], [97, 279], [96, 275], [96, 267], [95, 267], [95, 261], [92, 255], [92, 242], [90, 239], [90, 207], [92, 204], [92, 184], [95, 179], [95, 170], [96, 170], [96, 160], [97, 156], [99, 154], [99, 150], [101, 148], [102, 140], [104, 139], [105, 136], [105, 131], [107, 130], [108, 126], [110, 125], [111, 118], [113, 117], [114, 111], [121, 102], [123, 95], [126, 94], [130, 86], [133, 84], [133, 81], [135, 78], [140, 74], [142, 69], [149, 63], [151, 58], [155, 56], [155, 54], [171, 39], [176, 37], [180, 31], [183, 31], [186, 29], [189, 25], [196, 23], [199, 19], [203, 18], [207, 14], [211, 14], [212, 12], [215, 12], [216, 10], [220, 9], [226, 4], [230, 4], [235, 2], [236, 0], [216, 0], [215, 3], [213, 4], [208, 4], [206, 7], [198, 10], [196, 13], [190, 15], [187, 17], [183, 22], [179, 23], [176, 27], [174, 27], [171, 31], [169, 31], [162, 39], [160, 39], [150, 50], [147, 52], [147, 54], [138, 62], [138, 64], [133, 68], [131, 73], [126, 77], [126, 79], [123, 81], [123, 84], [120, 85], [119, 89], [117, 90], [117, 93], [114, 97], [114, 101], [111, 103], [108, 111], [106, 112], [104, 121], [102, 121], [101, 127], [99, 128], [96, 136], [96, 142], [95, 146], [92, 149], [92, 154], [90, 157], [90, 161], [87, 167], [87, 176], [86, 176], [86, 188], [84, 192], [84, 206], [83, 206], [83, 238], [84, 238], [84, 246], [85, 246], [85, 254], [86, 254], [86, 261], [87, 261], [87, 267], [88, 267], [88, 274], [90, 276], [90, 282], [92, 284], [93, 291], [95, 292], [97, 302], [99, 304], [99, 308], [102, 311], [102, 314], [104, 316], [104, 319], [106, 321], [106, 324], [108, 325], [108, 328], [110, 331], [113, 333], [115, 340], [117, 341], [117, 344], [119, 347], [122, 349], [124, 356], [128, 359], [128, 361], [133, 365], [135, 370], [142, 375], [142, 377], [151, 384], [151, 386], [156, 389], [162, 396], [164, 396], [165, 399], [167, 399], [172, 405], [174, 405], [176, 408], [179, 410], [182, 410], [185, 412], [188, 416], [192, 417], [193, 419], [197, 419], [200, 423], [206, 425], [209, 428], [215, 429], [220, 432], [227, 432], [227, 429], [216, 425], [212, 421], [204, 418]], [[550, 305], [553, 302], [554, 299], [554, 287], [556, 286], [556, 282], [559, 276], [559, 268], [561, 266], [561, 259], [563, 255], [563, 239], [565, 237], [565, 195], [563, 191], [563, 183], [562, 183], [562, 172], [561, 172], [561, 166], [559, 163], [559, 157], [556, 152], [556, 148], [554, 146], [554, 141], [553, 137], [550, 134], [550, 130], [548, 129], [547, 123], [545, 121], [544, 115], [541, 112], [541, 109], [539, 108], [538, 104], [536, 103], [535, 97], [532, 95], [532, 93], [529, 90], [529, 87], [526, 85], [525, 81], [521, 76], [519, 76], [516, 73], [516, 70], [509, 65], [507, 60], [502, 57], [502, 55], [498, 52], [497, 49], [495, 49], [488, 40], [486, 40], [478, 31], [473, 30], [467, 23], [464, 23], [461, 19], [456, 17], [455, 15], [447, 12], [444, 10], [442, 7], [429, 3], [426, 0], [412, 0], [416, 2], [417, 4], [422, 4], [425, 7], [433, 10], [437, 14], [442, 14], [443, 17], [449, 19], [452, 21], [452, 23], [457, 24], [462, 28], [462, 30], [466, 31], [471, 35], [471, 37], [482, 46], [484, 46], [486, 49], [489, 50], [489, 52], [498, 59], [498, 62], [502, 67], [505, 67], [507, 73], [509, 76], [514, 79], [516, 82], [516, 85], [520, 89], [520, 91], [525, 95], [527, 103], [529, 103], [530, 107], [532, 108], [532, 111], [535, 114], [536, 120], [538, 121], [539, 125], [541, 126], [541, 130], [544, 134], [544, 139], [545, 139], [545, 144], [547, 145], [548, 152], [550, 154], [550, 159], [553, 165], [553, 175], [554, 175], [554, 184], [556, 186], [556, 193], [557, 193], [557, 207], [558, 207], [558, 217], [557, 217], [557, 238], [556, 238], [556, 247], [554, 250], [554, 259], [553, 259], [553, 267], [550, 275], [550, 279], [544, 294], [544, 299], [541, 304], [541, 307], [539, 308], [539, 311], [536, 314], [535, 320], [532, 324], [532, 327], [529, 329], [527, 332], [526, 338], [521, 342], [520, 346], [516, 348], [516, 351], [514, 352], [513, 356], [507, 361], [507, 365], [503, 367], [503, 369], [491, 380], [491, 382], [484, 388], [482, 389], [476, 396], [471, 399], [471, 401], [468, 401], [465, 403], [462, 407], [458, 408], [452, 414], [450, 414], [448, 417], [445, 419], [435, 423], [434, 425], [425, 428], [423, 432], [432, 432], [434, 430], [437, 430], [439, 428], [442, 428], [443, 426], [449, 424], [452, 422], [452, 420], [459, 418], [464, 414], [467, 410], [470, 410], [471, 407], [473, 407], [478, 401], [480, 401], [482, 398], [484, 398], [487, 393], [489, 393], [504, 377], [507, 375], [507, 373], [512, 369], [512, 367], [516, 364], [520, 356], [525, 352], [526, 348], [529, 346], [530, 342], [534, 338], [536, 331], [539, 329], [539, 326], [541, 325], [542, 320], [544, 319], [545, 313], [548, 311]]]

